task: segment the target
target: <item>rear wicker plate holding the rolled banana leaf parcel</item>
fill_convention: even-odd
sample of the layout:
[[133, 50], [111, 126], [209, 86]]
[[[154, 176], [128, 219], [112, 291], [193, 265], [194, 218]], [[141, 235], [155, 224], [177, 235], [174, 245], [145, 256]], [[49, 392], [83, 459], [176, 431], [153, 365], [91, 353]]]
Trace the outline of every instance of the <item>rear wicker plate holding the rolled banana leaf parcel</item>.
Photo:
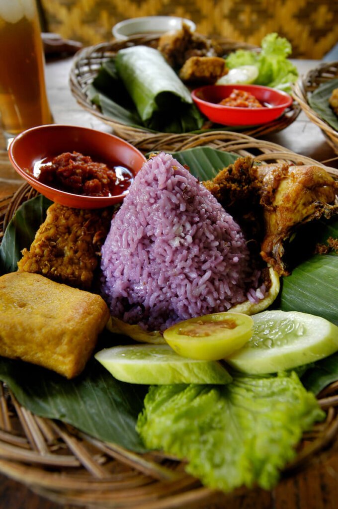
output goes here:
[[[120, 49], [140, 44], [156, 47], [157, 42], [158, 38], [154, 36], [142, 38], [135, 37], [130, 38], [128, 41], [115, 41], [84, 48], [74, 57], [70, 71], [70, 89], [80, 106], [98, 117], [104, 123], [111, 126], [114, 129], [115, 134], [121, 138], [129, 140], [131, 143], [139, 143], [139, 141], [142, 139], [146, 145], [142, 145], [142, 147], [139, 145], [139, 147], [145, 150], [152, 149], [153, 140], [159, 140], [161, 142], [162, 140], [167, 140], [168, 143], [166, 145], [166, 149], [173, 150], [170, 133], [154, 133], [147, 131], [146, 129], [138, 129], [117, 122], [114, 119], [103, 115], [100, 109], [95, 104], [93, 104], [86, 95], [86, 90], [92, 83], [102, 63], [114, 57]], [[229, 39], [219, 39], [217, 40], [217, 43], [222, 47], [223, 54], [227, 54], [239, 48], [255, 48], [255, 46], [251, 46], [245, 43], [236, 43]], [[241, 132], [251, 136], [262, 136], [278, 132], [292, 124], [292, 122], [294, 122], [298, 117], [299, 113], [300, 107], [297, 102], [294, 102], [278, 119], [261, 126], [246, 127], [243, 130], [241, 129]], [[210, 125], [210, 128], [213, 128], [212, 124]], [[147, 135], [147, 137], [145, 137], [145, 135]], [[185, 133], [181, 134], [180, 136], [181, 139], [188, 140], [191, 134]]]

